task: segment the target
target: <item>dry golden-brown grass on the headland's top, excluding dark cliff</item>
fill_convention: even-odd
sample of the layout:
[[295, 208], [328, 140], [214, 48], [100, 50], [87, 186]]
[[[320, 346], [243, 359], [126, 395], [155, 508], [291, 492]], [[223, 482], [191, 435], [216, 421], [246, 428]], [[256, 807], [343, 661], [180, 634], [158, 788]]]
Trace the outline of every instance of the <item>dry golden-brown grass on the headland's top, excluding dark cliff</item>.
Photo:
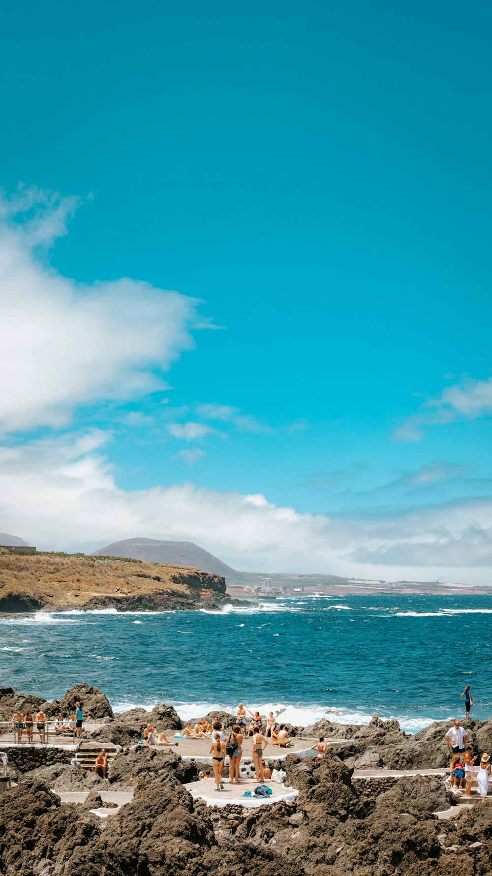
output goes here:
[[76, 606], [95, 596], [124, 597], [156, 590], [184, 596], [193, 579], [200, 587], [197, 578], [196, 569], [157, 562], [47, 552], [17, 555], [0, 548], [0, 597], [22, 592], [53, 605]]

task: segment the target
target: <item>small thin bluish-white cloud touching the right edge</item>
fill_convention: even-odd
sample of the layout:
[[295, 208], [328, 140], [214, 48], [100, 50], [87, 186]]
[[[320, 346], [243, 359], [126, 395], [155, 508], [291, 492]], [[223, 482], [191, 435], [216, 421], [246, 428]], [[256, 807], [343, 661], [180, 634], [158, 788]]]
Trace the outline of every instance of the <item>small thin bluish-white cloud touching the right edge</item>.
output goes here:
[[424, 437], [423, 427], [445, 425], [457, 420], [476, 420], [492, 414], [492, 378], [463, 378], [446, 386], [439, 396], [427, 399], [402, 426], [393, 430], [393, 440], [418, 442]]

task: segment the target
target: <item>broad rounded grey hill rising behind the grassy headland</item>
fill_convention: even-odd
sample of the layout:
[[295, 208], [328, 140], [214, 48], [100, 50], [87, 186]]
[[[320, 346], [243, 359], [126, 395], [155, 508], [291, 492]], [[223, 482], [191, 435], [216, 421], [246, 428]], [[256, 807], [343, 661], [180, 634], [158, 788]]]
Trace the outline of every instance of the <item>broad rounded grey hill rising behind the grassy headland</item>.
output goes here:
[[199, 548], [192, 541], [161, 541], [160, 539], [125, 539], [95, 550], [92, 556], [127, 556], [144, 562], [163, 562], [171, 566], [196, 566], [203, 572], [223, 577], [237, 576], [238, 572]]

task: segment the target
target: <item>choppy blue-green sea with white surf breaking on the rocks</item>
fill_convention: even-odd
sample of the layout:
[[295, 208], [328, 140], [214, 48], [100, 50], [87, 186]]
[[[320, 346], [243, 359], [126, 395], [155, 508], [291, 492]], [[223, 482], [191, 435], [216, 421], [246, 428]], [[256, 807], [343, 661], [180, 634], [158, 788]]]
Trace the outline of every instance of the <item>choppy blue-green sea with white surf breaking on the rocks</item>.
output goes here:
[[113, 708], [174, 703], [182, 717], [242, 701], [285, 720], [367, 722], [415, 732], [492, 714], [492, 598], [304, 597], [220, 613], [69, 612], [0, 618], [0, 686], [60, 697], [96, 684]]

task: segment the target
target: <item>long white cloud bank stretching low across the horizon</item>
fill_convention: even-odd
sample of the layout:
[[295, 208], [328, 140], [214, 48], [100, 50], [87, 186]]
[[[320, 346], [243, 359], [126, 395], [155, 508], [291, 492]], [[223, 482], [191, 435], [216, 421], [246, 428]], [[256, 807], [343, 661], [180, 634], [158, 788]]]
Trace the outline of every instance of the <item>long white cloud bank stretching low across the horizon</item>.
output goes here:
[[196, 541], [237, 569], [492, 583], [490, 497], [336, 518], [193, 484], [125, 491], [103, 454], [110, 438], [0, 447], [0, 529], [39, 548], [89, 552], [145, 535]]

